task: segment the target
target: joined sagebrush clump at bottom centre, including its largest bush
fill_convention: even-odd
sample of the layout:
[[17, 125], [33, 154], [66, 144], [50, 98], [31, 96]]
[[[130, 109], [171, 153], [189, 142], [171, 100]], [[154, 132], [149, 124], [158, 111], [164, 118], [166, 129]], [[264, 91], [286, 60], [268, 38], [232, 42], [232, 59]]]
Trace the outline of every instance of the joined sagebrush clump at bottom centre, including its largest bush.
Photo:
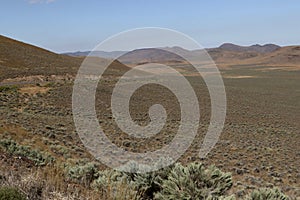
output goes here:
[[135, 199], [234, 199], [222, 197], [232, 186], [231, 175], [214, 166], [205, 169], [202, 164], [183, 166], [178, 163], [150, 173], [134, 171], [133, 167], [131, 173], [116, 170], [99, 172], [93, 187], [109, 192], [107, 190], [111, 187], [107, 186], [122, 182], [136, 191]]

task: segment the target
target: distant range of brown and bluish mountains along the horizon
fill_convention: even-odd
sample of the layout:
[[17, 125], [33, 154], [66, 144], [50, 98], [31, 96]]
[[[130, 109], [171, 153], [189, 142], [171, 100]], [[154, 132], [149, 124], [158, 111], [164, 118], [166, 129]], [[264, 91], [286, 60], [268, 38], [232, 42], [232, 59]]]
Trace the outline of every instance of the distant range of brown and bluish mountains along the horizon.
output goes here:
[[[116, 58], [124, 64], [140, 64], [148, 62], [180, 63], [184, 62], [180, 56], [197, 58], [201, 50], [186, 50], [181, 47], [163, 47], [136, 49], [127, 51], [95, 51], [65, 53], [70, 56], [97, 56], [102, 58]], [[225, 43], [217, 48], [206, 49], [208, 54], [219, 67], [234, 65], [265, 65], [265, 66], [300, 66], [300, 46], [280, 47], [275, 44], [239, 46]]]

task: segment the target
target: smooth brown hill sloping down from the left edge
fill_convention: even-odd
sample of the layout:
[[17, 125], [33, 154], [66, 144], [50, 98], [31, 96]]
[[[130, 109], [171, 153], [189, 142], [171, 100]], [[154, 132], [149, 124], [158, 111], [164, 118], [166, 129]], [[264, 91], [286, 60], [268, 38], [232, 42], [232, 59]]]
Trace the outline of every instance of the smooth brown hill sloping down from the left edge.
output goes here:
[[[0, 35], [0, 81], [35, 75], [75, 75], [83, 60], [84, 57], [56, 54]], [[127, 68], [117, 61], [113, 65]]]

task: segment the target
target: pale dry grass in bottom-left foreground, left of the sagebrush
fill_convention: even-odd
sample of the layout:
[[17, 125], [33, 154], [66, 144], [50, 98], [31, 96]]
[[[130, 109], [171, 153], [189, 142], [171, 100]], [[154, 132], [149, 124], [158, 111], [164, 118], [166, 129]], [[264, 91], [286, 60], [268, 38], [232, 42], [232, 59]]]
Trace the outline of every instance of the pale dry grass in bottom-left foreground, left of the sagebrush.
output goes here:
[[64, 171], [48, 166], [34, 168], [28, 172], [14, 173], [1, 169], [0, 186], [18, 188], [30, 200], [131, 200], [137, 199], [137, 192], [125, 182], [111, 182], [105, 187], [95, 190], [80, 184], [67, 182]]

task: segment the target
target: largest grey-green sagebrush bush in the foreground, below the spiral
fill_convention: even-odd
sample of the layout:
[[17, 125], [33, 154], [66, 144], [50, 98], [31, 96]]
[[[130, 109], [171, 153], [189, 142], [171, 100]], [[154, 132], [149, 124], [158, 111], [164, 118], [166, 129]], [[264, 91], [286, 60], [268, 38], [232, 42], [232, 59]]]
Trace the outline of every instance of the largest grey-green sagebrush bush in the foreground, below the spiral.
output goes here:
[[217, 199], [232, 187], [232, 179], [215, 166], [205, 169], [198, 163], [186, 167], [178, 163], [160, 186], [156, 199]]

